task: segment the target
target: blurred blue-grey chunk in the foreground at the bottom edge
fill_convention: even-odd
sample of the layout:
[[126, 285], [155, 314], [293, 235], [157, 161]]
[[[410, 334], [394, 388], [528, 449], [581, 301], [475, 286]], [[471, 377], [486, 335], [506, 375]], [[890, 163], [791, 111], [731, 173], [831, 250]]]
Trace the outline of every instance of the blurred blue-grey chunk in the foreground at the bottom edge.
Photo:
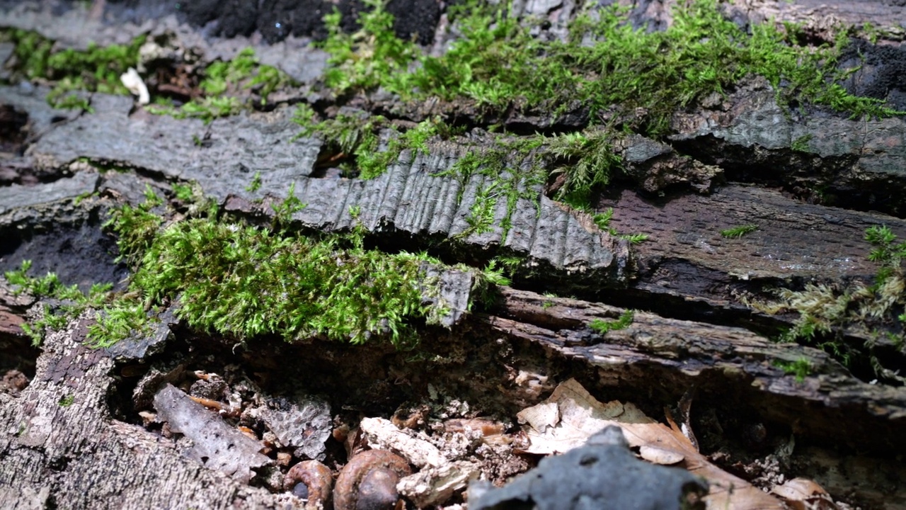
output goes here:
[[[588, 444], [542, 459], [538, 467], [502, 488], [481, 494], [481, 485], [473, 485], [469, 508], [515, 509], [527, 504], [538, 510], [679, 509], [708, 492], [697, 476], [642, 462], [628, 446], [619, 427], [607, 427], [591, 436]], [[471, 495], [477, 498], [473, 501]]]

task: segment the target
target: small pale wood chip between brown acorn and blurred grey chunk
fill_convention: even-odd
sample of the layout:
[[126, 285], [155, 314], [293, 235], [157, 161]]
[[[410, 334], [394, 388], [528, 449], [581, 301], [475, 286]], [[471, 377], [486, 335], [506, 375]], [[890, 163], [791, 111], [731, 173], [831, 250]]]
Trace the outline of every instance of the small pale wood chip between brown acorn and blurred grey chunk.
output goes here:
[[477, 479], [479, 473], [479, 467], [468, 461], [426, 467], [415, 475], [400, 479], [397, 490], [419, 508], [443, 505], [455, 493], [465, 489], [470, 481]]

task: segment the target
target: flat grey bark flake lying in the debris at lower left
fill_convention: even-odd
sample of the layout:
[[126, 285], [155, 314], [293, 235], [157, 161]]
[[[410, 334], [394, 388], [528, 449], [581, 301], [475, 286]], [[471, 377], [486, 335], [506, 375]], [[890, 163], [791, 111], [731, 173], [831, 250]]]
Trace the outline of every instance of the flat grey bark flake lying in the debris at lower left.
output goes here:
[[261, 444], [226, 425], [177, 387], [163, 387], [154, 397], [154, 407], [159, 419], [169, 423], [170, 430], [192, 440], [193, 445], [183, 455], [210, 469], [247, 483], [255, 475], [252, 468], [271, 462], [258, 453]]

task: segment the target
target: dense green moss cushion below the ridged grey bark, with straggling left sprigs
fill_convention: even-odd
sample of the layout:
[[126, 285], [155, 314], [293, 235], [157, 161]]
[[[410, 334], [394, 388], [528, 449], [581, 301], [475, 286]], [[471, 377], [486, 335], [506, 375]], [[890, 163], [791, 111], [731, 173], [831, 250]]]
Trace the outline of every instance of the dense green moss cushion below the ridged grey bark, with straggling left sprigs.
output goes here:
[[[114, 211], [109, 226], [120, 252], [135, 262], [128, 300], [101, 313], [89, 336], [110, 345], [141, 326], [145, 310], [178, 301], [188, 326], [245, 340], [276, 334], [287, 340], [329, 338], [362, 343], [387, 338], [397, 347], [417, 341], [419, 322], [439, 324], [447, 313], [439, 281], [426, 276], [425, 254], [366, 249], [363, 231], [305, 237], [285, 226], [304, 204], [275, 207], [275, 229], [242, 221], [194, 218], [159, 229], [162, 220], [139, 207]], [[501, 280], [490, 268], [478, 293]]]

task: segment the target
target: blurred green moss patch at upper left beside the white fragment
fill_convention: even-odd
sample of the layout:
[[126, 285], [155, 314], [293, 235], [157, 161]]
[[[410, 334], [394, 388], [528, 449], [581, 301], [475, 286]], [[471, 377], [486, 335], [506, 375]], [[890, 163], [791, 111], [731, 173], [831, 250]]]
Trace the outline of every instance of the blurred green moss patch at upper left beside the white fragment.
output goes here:
[[128, 95], [120, 74], [139, 64], [139, 48], [145, 42], [140, 35], [130, 44], [98, 46], [85, 50], [53, 50], [53, 41], [25, 30], [8, 30], [0, 38], [15, 44], [14, 72], [24, 79], [52, 84], [47, 102], [60, 108], [88, 109], [88, 103], [72, 91]]

